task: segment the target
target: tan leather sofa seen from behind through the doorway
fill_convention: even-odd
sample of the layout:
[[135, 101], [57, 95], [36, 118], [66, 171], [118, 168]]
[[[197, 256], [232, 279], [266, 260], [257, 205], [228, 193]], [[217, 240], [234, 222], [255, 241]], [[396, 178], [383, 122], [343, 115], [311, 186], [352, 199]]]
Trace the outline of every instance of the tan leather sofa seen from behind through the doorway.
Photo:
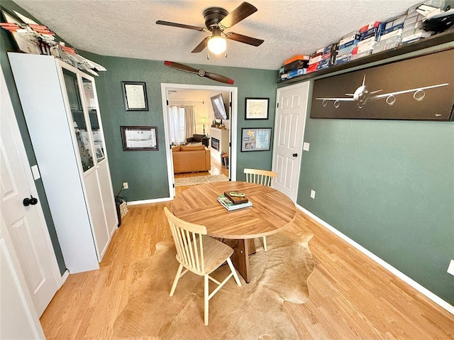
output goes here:
[[211, 169], [210, 150], [205, 146], [175, 146], [172, 148], [173, 172], [199, 172]]

